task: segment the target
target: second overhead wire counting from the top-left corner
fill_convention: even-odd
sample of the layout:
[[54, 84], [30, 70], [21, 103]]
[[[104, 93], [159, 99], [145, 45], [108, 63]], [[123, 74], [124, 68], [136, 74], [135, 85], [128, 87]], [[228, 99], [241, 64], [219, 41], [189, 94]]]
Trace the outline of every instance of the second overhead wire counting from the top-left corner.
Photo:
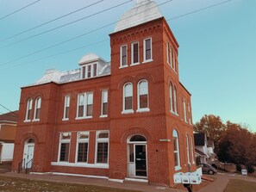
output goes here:
[[44, 22], [44, 23], [42, 23], [42, 24], [40, 24], [40, 25], [37, 25], [37, 26], [35, 26], [34, 28], [28, 28], [27, 30], [24, 30], [24, 31], [22, 31], [22, 32], [20, 32], [20, 33], [17, 33], [17, 34], [13, 34], [13, 35], [11, 35], [11, 36], [9, 36], [9, 37], [3, 39], [3, 40], [0, 40], [0, 42], [3, 42], [3, 41], [5, 41], [5, 40], [12, 39], [13, 37], [16, 37], [16, 36], [18, 36], [18, 35], [20, 35], [20, 34], [25, 34], [25, 33], [27, 33], [28, 31], [31, 31], [31, 30], [33, 30], [33, 29], [35, 29], [35, 28], [40, 28], [40, 27], [42, 27], [42, 26], [44, 26], [44, 25], [47, 25], [47, 24], [49, 24], [49, 23], [51, 23], [51, 22], [55, 22], [55, 21], [57, 21], [57, 20], [59, 20], [59, 19], [62, 19], [62, 18], [64, 18], [64, 17], [68, 16], [68, 15], [72, 15], [72, 14], [74, 14], [74, 13], [77, 13], [78, 11], [81, 11], [81, 10], [87, 9], [87, 8], [90, 8], [91, 6], [96, 5], [97, 3], [101, 3], [101, 2], [103, 2], [103, 1], [104, 1], [104, 0], [100, 0], [100, 1], [97, 1], [96, 3], [91, 3], [91, 4], [87, 5], [87, 6], [84, 6], [83, 8], [76, 9], [76, 10], [70, 12], [70, 13], [67, 13], [66, 15], [61, 15], [61, 16], [59, 16], [59, 17], [57, 17], [57, 18], [55, 18], [55, 19], [52, 19], [52, 20], [50, 20], [50, 21], [48, 21], [48, 22]]

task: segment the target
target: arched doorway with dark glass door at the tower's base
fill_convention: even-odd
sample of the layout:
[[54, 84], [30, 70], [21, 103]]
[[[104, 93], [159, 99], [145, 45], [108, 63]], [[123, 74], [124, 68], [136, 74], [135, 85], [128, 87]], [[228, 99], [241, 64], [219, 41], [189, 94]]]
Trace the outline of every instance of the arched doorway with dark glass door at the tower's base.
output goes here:
[[128, 177], [147, 178], [147, 139], [140, 134], [128, 138]]

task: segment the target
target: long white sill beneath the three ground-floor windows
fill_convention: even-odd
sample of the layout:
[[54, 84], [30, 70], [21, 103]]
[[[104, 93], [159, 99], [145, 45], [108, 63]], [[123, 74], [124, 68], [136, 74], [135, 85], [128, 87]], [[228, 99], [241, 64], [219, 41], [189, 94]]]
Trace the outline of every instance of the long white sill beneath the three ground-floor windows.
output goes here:
[[109, 169], [109, 164], [87, 164], [87, 163], [69, 163], [69, 162], [52, 162], [53, 166], [67, 166], [67, 167], [87, 167], [97, 169]]

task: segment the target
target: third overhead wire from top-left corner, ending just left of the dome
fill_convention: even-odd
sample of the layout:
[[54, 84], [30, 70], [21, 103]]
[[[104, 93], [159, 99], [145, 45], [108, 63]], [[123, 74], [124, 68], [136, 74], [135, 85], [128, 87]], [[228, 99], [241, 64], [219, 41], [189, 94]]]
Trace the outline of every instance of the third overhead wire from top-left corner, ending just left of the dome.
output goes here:
[[82, 18], [80, 18], [80, 19], [78, 19], [78, 20], [75, 20], [75, 21], [73, 21], [73, 22], [68, 22], [68, 23], [63, 24], [63, 25], [60, 25], [60, 26], [58, 26], [58, 27], [56, 27], [56, 28], [51, 28], [51, 29], [49, 29], [49, 30], [47, 30], [47, 31], [41, 32], [41, 33], [39, 33], [39, 34], [34, 34], [34, 35], [29, 36], [29, 37], [27, 37], [27, 38], [24, 38], [24, 39], [22, 39], [22, 40], [17, 40], [17, 41], [15, 41], [15, 42], [13, 42], [13, 43], [10, 43], [10, 44], [7, 45], [7, 46], [2, 46], [1, 48], [5, 48], [5, 47], [8, 47], [8, 46], [16, 45], [17, 43], [20, 43], [20, 42], [22, 42], [22, 41], [24, 41], [24, 40], [30, 40], [30, 39], [32, 39], [32, 38], [34, 38], [34, 37], [40, 36], [41, 34], [47, 34], [47, 33], [49, 33], [49, 32], [52, 32], [52, 31], [56, 30], [56, 29], [66, 27], [66, 26], [71, 25], [71, 24], [73, 24], [73, 23], [75, 23], [75, 22], [80, 22], [80, 21], [82, 21], [82, 20], [84, 20], [84, 19], [88, 19], [88, 18], [90, 18], [91, 16], [101, 14], [101, 13], [103, 13], [103, 12], [106, 12], [106, 11], [110, 10], [110, 9], [115, 9], [116, 7], [119, 7], [119, 6], [123, 5], [123, 4], [129, 3], [129, 2], [131, 2], [131, 1], [133, 1], [133, 0], [128, 0], [128, 1], [126, 1], [126, 2], [124, 2], [124, 3], [117, 4], [117, 5], [113, 6], [113, 7], [108, 8], [108, 9], [103, 9], [103, 10], [101, 10], [101, 11], [98, 11], [97, 13], [84, 16], [84, 17], [82, 17]]

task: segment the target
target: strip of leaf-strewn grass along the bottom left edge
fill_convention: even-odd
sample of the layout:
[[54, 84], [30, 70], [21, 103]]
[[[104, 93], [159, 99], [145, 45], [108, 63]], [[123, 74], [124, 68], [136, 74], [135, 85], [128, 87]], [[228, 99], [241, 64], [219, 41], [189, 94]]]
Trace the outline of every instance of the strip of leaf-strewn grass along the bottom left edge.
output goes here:
[[[82, 184], [53, 183], [15, 177], [0, 177], [0, 192], [136, 192]], [[138, 192], [138, 191], [137, 191]]]

